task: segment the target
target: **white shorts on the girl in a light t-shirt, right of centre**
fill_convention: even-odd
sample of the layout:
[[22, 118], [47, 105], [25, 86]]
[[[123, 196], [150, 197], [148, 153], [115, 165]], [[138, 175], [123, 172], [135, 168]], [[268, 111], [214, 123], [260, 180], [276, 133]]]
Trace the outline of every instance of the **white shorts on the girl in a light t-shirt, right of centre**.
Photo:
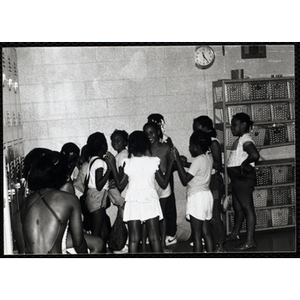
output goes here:
[[186, 218], [190, 216], [205, 221], [211, 220], [214, 198], [211, 191], [201, 191], [187, 197]]

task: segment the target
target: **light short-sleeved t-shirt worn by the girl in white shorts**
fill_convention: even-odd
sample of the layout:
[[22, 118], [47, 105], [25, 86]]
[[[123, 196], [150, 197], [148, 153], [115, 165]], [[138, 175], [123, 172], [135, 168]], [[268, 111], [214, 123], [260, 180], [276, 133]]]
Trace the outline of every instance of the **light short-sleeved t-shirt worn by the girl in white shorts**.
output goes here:
[[193, 195], [200, 191], [209, 191], [211, 172], [213, 167], [213, 157], [210, 153], [197, 156], [188, 173], [193, 175], [193, 179], [187, 184], [187, 195]]

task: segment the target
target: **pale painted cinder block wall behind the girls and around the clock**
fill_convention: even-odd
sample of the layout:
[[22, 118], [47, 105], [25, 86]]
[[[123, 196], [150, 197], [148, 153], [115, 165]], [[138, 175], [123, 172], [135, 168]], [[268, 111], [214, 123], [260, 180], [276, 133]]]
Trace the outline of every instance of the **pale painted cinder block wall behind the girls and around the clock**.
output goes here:
[[[150, 113], [166, 120], [166, 133], [190, 159], [193, 118], [213, 116], [212, 81], [232, 69], [251, 78], [294, 75], [294, 47], [268, 45], [266, 59], [241, 59], [240, 46], [212, 46], [213, 66], [194, 64], [195, 46], [17, 48], [25, 154], [35, 147], [80, 148], [103, 132], [110, 147], [114, 129], [142, 129]], [[264, 158], [289, 157], [293, 147], [264, 150]], [[178, 235], [190, 235], [185, 221], [185, 188], [175, 175]]]

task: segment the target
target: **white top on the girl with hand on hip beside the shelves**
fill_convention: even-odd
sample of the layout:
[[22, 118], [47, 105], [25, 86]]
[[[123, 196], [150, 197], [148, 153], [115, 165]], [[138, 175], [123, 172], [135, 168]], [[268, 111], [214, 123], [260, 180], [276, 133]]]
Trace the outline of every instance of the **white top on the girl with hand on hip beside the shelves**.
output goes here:
[[[244, 135], [240, 136], [232, 145], [232, 148], [235, 147], [237, 143], [236, 150], [231, 150], [228, 158], [227, 167], [239, 167], [241, 166], [242, 162], [247, 159], [248, 153], [244, 151], [243, 145], [245, 142], [251, 142], [254, 144], [250, 133], [245, 133]], [[250, 163], [252, 167], [255, 166], [254, 162]]]

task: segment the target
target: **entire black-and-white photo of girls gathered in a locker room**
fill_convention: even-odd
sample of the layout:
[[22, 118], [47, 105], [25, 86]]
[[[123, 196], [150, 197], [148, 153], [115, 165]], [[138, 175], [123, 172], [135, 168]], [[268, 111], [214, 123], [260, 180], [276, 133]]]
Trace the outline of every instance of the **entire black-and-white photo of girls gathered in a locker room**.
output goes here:
[[4, 256], [296, 252], [293, 43], [2, 48]]

